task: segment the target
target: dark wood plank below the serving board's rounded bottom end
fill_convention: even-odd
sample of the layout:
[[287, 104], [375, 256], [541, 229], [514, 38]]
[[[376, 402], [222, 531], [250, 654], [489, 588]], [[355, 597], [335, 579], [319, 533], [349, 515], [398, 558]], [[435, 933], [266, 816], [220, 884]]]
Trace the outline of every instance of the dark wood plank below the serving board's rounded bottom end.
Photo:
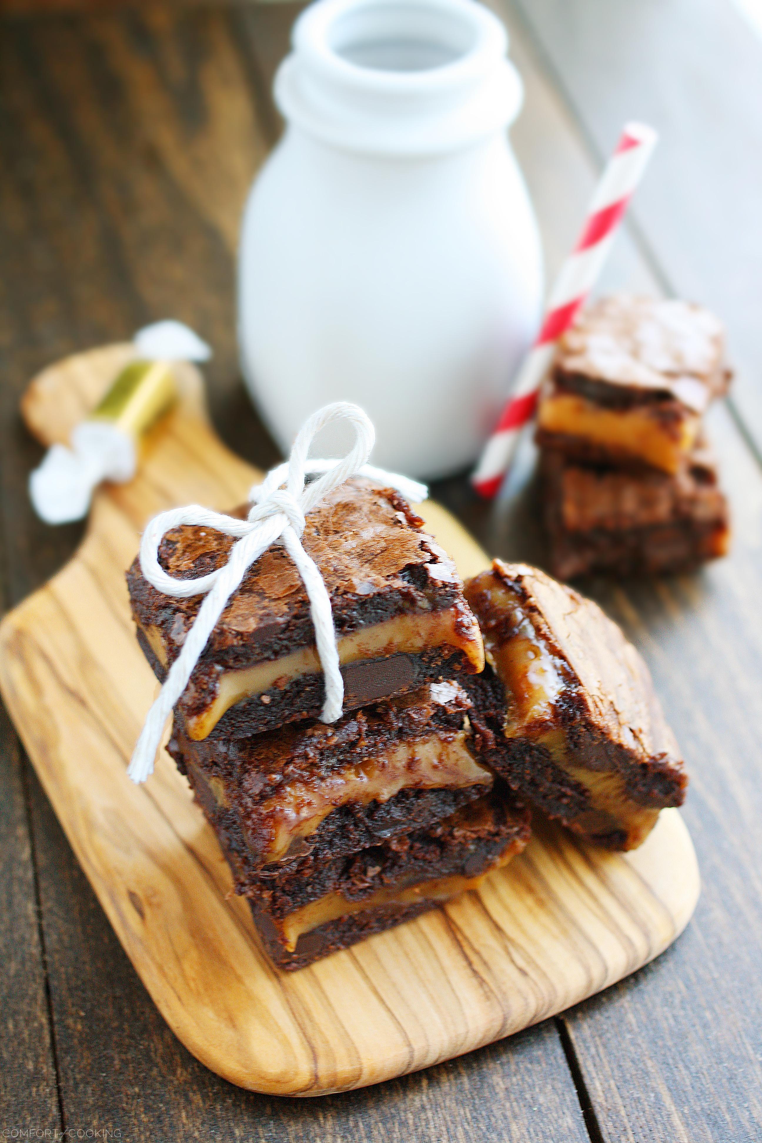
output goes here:
[[[379, 1136], [390, 1143], [587, 1143], [552, 1021], [460, 1060], [342, 1096], [272, 1098], [225, 1082], [173, 1036], [33, 774], [31, 786], [35, 829], [47, 840], [39, 873], [69, 1126], [119, 1129], [125, 1143], [153, 1137], [375, 1143]], [[18, 1118], [37, 1110], [30, 1094], [13, 1090], [9, 1108]], [[53, 1114], [40, 1113], [39, 1121], [56, 1124]]]

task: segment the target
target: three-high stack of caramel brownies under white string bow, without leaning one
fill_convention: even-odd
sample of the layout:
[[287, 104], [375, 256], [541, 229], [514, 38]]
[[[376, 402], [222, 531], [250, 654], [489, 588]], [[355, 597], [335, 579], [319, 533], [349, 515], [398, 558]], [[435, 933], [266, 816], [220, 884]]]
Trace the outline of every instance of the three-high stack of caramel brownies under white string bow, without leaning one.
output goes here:
[[[529, 838], [529, 812], [480, 760], [464, 682], [483, 670], [482, 637], [451, 560], [422, 523], [367, 480], [307, 517], [303, 544], [337, 631], [339, 721], [319, 721], [310, 605], [278, 544], [249, 568], [175, 708], [170, 753], [286, 968], [473, 887]], [[219, 567], [231, 545], [181, 527], [159, 558], [190, 578]], [[141, 646], [163, 680], [200, 597], [161, 594], [137, 560], [128, 584]]]

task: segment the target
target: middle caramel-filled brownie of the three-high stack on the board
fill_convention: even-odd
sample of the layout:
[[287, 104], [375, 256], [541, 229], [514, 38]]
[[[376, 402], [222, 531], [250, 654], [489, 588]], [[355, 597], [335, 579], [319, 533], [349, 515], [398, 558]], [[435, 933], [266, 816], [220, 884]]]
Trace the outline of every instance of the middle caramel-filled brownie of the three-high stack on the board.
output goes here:
[[282, 870], [423, 828], [489, 790], [470, 709], [457, 682], [435, 682], [331, 726], [193, 742], [176, 725], [169, 750], [247, 868]]

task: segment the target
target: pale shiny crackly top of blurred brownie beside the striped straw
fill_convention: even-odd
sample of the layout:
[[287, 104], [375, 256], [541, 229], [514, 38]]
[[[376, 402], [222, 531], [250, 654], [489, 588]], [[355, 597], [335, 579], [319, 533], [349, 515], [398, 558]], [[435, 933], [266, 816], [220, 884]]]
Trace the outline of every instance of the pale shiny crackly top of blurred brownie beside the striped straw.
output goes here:
[[560, 339], [555, 378], [584, 392], [593, 383], [593, 400], [674, 398], [703, 413], [727, 389], [723, 355], [724, 329], [708, 310], [618, 294], [583, 310]]

